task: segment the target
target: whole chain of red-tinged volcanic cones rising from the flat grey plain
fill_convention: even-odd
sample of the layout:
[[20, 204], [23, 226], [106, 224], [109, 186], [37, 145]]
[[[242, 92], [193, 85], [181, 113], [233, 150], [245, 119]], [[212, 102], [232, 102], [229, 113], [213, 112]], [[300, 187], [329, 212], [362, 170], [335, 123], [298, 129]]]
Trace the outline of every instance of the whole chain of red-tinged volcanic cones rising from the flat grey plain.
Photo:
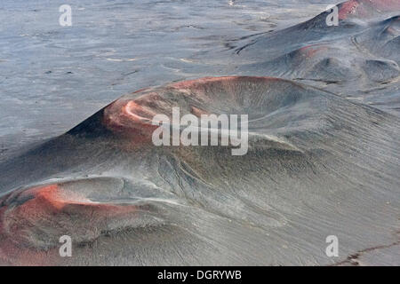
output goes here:
[[[220, 51], [246, 76], [135, 91], [2, 162], [0, 264], [400, 264], [399, 10], [348, 1], [339, 27], [325, 12]], [[248, 153], [154, 146], [174, 106], [249, 114]]]

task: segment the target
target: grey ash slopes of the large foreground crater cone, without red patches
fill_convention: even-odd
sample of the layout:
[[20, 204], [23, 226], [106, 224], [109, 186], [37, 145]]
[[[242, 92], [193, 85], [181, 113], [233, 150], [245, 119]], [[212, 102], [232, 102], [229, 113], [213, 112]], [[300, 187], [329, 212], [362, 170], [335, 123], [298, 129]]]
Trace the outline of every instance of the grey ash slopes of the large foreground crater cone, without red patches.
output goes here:
[[[134, 101], [165, 107], [165, 113], [176, 104], [187, 112], [188, 106], [215, 114], [252, 110], [248, 154], [232, 156], [220, 146], [131, 146], [132, 138], [121, 134], [126, 131], [107, 126], [106, 107], [0, 166], [3, 192], [22, 186], [3, 198], [13, 217], [0, 214], [3, 226], [4, 220], [11, 222], [7, 228], [33, 225], [16, 243], [2, 231], [2, 251], [12, 246], [18, 254], [0, 259], [19, 264], [17, 256], [47, 251], [51, 257], [40, 264], [334, 264], [365, 248], [396, 244], [396, 116], [280, 79], [183, 85], [126, 95], [114, 106]], [[27, 217], [19, 207], [28, 210], [28, 201], [19, 196], [37, 196], [26, 189], [34, 184], [55, 184], [84, 203], [64, 201], [67, 206], [50, 215], [37, 203], [42, 218]], [[92, 202], [98, 207], [86, 211]], [[76, 240], [74, 257], [56, 256], [60, 234]], [[324, 254], [330, 234], [340, 239], [338, 259]], [[380, 264], [388, 254], [366, 264]]]

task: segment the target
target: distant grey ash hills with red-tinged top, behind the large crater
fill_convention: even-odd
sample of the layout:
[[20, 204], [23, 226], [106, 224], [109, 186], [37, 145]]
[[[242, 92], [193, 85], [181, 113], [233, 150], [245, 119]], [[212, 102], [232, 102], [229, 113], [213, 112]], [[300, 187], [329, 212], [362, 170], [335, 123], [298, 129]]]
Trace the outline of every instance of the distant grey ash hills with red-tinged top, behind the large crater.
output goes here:
[[323, 12], [258, 36], [236, 50], [236, 73], [308, 83], [398, 115], [391, 94], [399, 90], [400, 6], [385, 4], [348, 1], [339, 5], [338, 27], [328, 27]]

